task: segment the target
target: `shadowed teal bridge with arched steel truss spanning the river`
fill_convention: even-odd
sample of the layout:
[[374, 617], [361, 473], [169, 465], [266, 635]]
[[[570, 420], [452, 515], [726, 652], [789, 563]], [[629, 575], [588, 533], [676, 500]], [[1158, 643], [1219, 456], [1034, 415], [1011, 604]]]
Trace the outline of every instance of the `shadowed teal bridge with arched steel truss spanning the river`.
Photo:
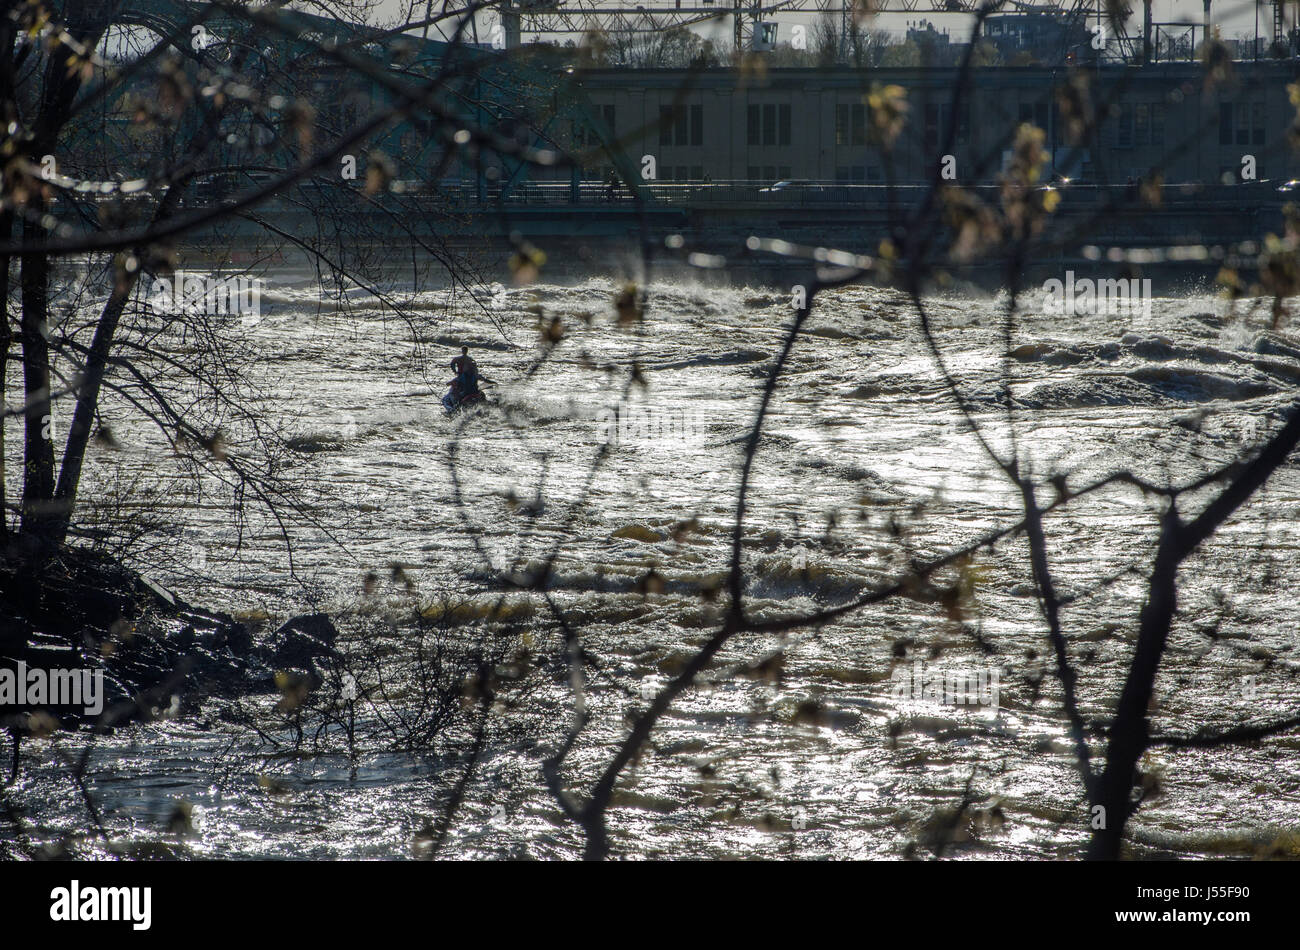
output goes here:
[[[133, 0], [127, 4], [129, 18], [164, 34], [176, 32], [203, 17], [205, 10], [207, 5], [185, 0]], [[394, 83], [410, 82], [412, 74], [432, 75], [448, 56], [464, 57], [472, 68], [463, 82], [448, 90], [446, 103], [467, 126], [493, 127], [512, 120], [526, 131], [534, 149], [556, 153], [567, 151], [564, 146], [576, 130], [588, 143], [588, 155], [603, 156], [618, 169], [620, 181], [612, 190], [604, 182], [584, 181], [578, 165], [571, 168], [567, 182], [532, 181], [530, 165], [512, 156], [502, 156], [495, 169], [480, 161], [469, 182], [410, 179], [402, 182], [400, 201], [385, 195], [385, 209], [368, 216], [365, 226], [377, 242], [385, 240], [386, 233], [391, 237], [382, 216], [400, 209], [411, 214], [417, 233], [426, 229], [430, 237], [467, 246], [495, 246], [517, 231], [537, 242], [606, 251], [620, 244], [658, 244], [673, 234], [682, 235], [688, 246], [710, 253], [742, 247], [750, 234], [810, 246], [875, 248], [898, 226], [901, 209], [914, 205], [923, 194], [923, 186], [915, 185], [806, 182], [774, 187], [771, 181], [647, 182], [640, 166], [629, 161], [624, 143], [615, 138], [614, 130], [586, 99], [563, 53], [521, 57], [490, 49], [451, 48], [408, 35], [394, 38], [287, 10], [268, 16], [281, 18], [278, 25], [286, 43], [278, 56], [285, 61], [298, 61], [330, 39], [369, 57], [382, 74], [369, 81], [369, 91], [380, 100], [390, 94], [387, 77], [391, 75]], [[220, 57], [222, 44], [233, 43], [238, 31], [247, 27], [247, 21], [240, 18], [204, 22], [213, 35], [211, 45], [200, 51], [178, 47], [200, 62], [204, 57]], [[229, 36], [224, 36], [226, 32]], [[407, 44], [400, 64], [393, 57], [396, 44]], [[420, 144], [403, 152], [402, 142], [408, 134]], [[416, 118], [395, 122], [372, 144], [391, 149], [391, 155], [402, 156], [416, 168], [426, 162], [432, 149], [451, 147], [430, 135]], [[295, 159], [283, 156], [283, 160]], [[1089, 239], [1127, 246], [1247, 242], [1270, 230], [1280, 233], [1280, 205], [1290, 194], [1279, 192], [1275, 186], [1275, 182], [1258, 182], [1249, 187], [1209, 186], [1191, 191], [1171, 187], [1157, 209], [1141, 207], [1122, 188], [1074, 187], [1066, 192], [1053, 222], [1089, 220], [1108, 201], [1115, 200], [1121, 211], [1106, 217], [1100, 233], [1091, 231]], [[307, 187], [309, 183], [300, 186], [299, 194]], [[978, 188], [975, 191], [979, 194]], [[220, 192], [221, 188], [216, 188], [212, 194], [220, 196]], [[259, 212], [273, 216], [289, 233], [298, 229], [311, 233], [315, 230], [311, 212], [295, 204], [295, 198], [298, 195], [278, 198]], [[988, 200], [996, 203], [996, 194], [991, 191]], [[226, 222], [221, 230], [238, 234], [246, 227], [251, 225]], [[1061, 248], [1061, 253], [1069, 257], [1082, 251], [1076, 243]]]

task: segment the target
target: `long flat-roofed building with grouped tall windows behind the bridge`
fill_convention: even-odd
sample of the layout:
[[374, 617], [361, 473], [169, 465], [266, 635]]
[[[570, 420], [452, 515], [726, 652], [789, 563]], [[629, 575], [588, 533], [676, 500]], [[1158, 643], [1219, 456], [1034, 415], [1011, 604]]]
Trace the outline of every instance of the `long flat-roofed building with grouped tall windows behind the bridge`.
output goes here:
[[[1157, 170], [1166, 182], [1209, 183], [1236, 175], [1247, 155], [1258, 178], [1300, 175], [1287, 144], [1296, 117], [1287, 84], [1297, 74], [1295, 61], [1238, 62], [1231, 81], [1206, 87], [1205, 70], [1187, 62], [984, 68], [956, 112], [956, 69], [772, 69], [762, 79], [611, 69], [585, 73], [581, 87], [632, 164], [653, 157], [659, 181], [922, 182], [950, 153], [958, 181], [992, 182], [1017, 127], [1031, 122], [1058, 173], [1122, 183]], [[1105, 113], [1078, 148], [1053, 92], [1071, 75], [1087, 79]], [[870, 126], [874, 84], [906, 90], [907, 122], [892, 151]], [[608, 172], [597, 160], [584, 177]]]

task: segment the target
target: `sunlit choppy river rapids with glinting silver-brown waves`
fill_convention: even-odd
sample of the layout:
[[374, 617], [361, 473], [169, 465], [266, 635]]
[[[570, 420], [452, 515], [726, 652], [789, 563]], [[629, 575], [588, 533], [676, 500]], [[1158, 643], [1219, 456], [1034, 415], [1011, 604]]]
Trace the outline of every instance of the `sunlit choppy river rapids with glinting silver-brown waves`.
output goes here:
[[[451, 635], [478, 637], [503, 590], [499, 572], [526, 573], [554, 555], [551, 597], [593, 659], [593, 721], [568, 772], [582, 788], [625, 734], [627, 715], [645, 706], [642, 694], [715, 629], [718, 602], [699, 591], [727, 569], [744, 438], [792, 318], [788, 298], [662, 285], [644, 322], [620, 326], [619, 287], [593, 279], [498, 286], [478, 302], [428, 292], [407, 302], [419, 315], [407, 324], [372, 296], [322, 302], [292, 273], [270, 287], [260, 320], [240, 333], [255, 347], [266, 411], [296, 435], [292, 477], [307, 516], [287, 519], [291, 543], [256, 508], [240, 532], [217, 486], [195, 498], [188, 482], [173, 481], [157, 434], [121, 405], [108, 408], [120, 448], [96, 448], [88, 495], [161, 486], [151, 512], [173, 525], [164, 541], [179, 563], [160, 580], [185, 597], [265, 616], [263, 629], [320, 608], [347, 634], [391, 613], [398, 660], [413, 637], [402, 621], [413, 604], [464, 598], [447, 613]], [[946, 372], [996, 451], [1015, 451], [1044, 480], [1065, 473], [1072, 487], [1123, 469], [1175, 483], [1208, 472], [1279, 425], [1300, 379], [1300, 337], [1270, 329], [1266, 305], [1191, 296], [1157, 299], [1149, 315], [1026, 312], [1009, 350], [1005, 305], [974, 295], [928, 300]], [[541, 359], [538, 325], [552, 317], [566, 335]], [[462, 340], [498, 385], [491, 405], [448, 420], [438, 395]], [[185, 357], [195, 344], [174, 346]], [[629, 386], [633, 365], [640, 382]], [[231, 438], [238, 447], [238, 433]], [[1300, 469], [1284, 467], [1186, 567], [1156, 732], [1294, 711], [1297, 490]], [[871, 287], [819, 296], [754, 461], [744, 545], [751, 616], [842, 603], [898, 576], [909, 558], [942, 555], [1019, 516], [906, 298]], [[1058, 585], [1075, 598], [1065, 630], [1086, 715], [1113, 708], [1157, 517], [1153, 499], [1117, 486], [1048, 520]], [[692, 519], [690, 530], [675, 530]], [[404, 565], [399, 577], [394, 563]], [[369, 572], [378, 580], [368, 585]], [[779, 677], [723, 674], [777, 639], [728, 645], [711, 685], [675, 703], [620, 785], [614, 854], [1076, 855], [1088, 815], [1026, 546], [1011, 538], [961, 577], [939, 580], [963, 585], [959, 602], [915, 593], [800, 632]], [[572, 713], [560, 634], [537, 594], [515, 597], [532, 682], [517, 708], [494, 715], [502, 725], [448, 855], [581, 853], [540, 767]], [[890, 676], [910, 677], [918, 663], [996, 672], [996, 707], [898, 695]], [[276, 695], [250, 702], [269, 710]], [[354, 763], [338, 751], [277, 747], [221, 710], [213, 700], [198, 715], [98, 741], [88, 786], [112, 847], [407, 856], [460, 775], [450, 746], [361, 749]], [[62, 736], [29, 746], [12, 798], [38, 837], [86, 824], [60, 758], [83, 745]], [[1150, 794], [1131, 825], [1135, 853], [1294, 847], [1297, 745], [1283, 737], [1152, 752]], [[963, 795], [967, 807], [953, 817]], [[181, 802], [194, 806], [195, 830], [178, 840], [168, 823]]]

